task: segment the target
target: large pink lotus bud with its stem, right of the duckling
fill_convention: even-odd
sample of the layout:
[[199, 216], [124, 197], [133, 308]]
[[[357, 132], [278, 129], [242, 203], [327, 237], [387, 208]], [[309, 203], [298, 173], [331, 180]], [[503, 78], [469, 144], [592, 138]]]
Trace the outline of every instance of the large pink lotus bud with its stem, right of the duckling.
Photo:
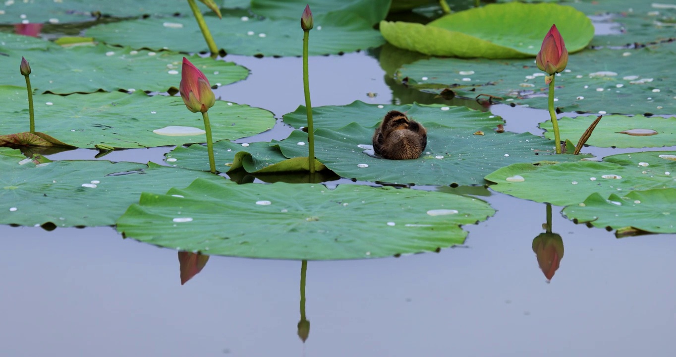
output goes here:
[[556, 121], [556, 111], [554, 110], [554, 77], [562, 72], [568, 64], [568, 50], [563, 42], [563, 37], [558, 32], [556, 24], [552, 25], [549, 32], [542, 40], [542, 47], [535, 57], [535, 64], [539, 70], [546, 72], [545, 84], [549, 88], [549, 112], [552, 118], [552, 127], [554, 128], [554, 145], [556, 153], [561, 153], [561, 138], [558, 132], [558, 122]]

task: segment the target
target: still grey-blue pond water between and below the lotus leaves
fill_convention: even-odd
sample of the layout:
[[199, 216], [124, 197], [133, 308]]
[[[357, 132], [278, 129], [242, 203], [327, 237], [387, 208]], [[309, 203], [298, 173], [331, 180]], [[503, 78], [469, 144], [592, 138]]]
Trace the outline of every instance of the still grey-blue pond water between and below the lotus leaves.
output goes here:
[[[226, 60], [246, 66], [251, 76], [217, 96], [278, 118], [304, 103], [299, 58]], [[377, 58], [366, 52], [312, 57], [310, 88], [314, 106], [415, 98], [480, 108], [472, 100], [445, 101], [386, 82]], [[506, 119], [507, 130], [538, 135], [537, 122], [548, 118], [544, 110], [508, 105], [490, 110]], [[278, 124], [254, 140], [288, 133]], [[161, 162], [169, 150], [114, 151], [102, 159]], [[93, 159], [96, 153], [79, 149], [50, 158]], [[297, 336], [301, 262], [212, 256], [180, 285], [176, 251], [122, 239], [110, 227], [2, 226], [9, 254], [1, 265], [1, 355], [676, 355], [676, 235], [617, 239], [562, 218], [554, 207], [552, 227], [565, 254], [548, 282], [531, 247], [544, 231], [546, 206], [495, 192], [480, 198], [498, 212], [465, 227], [462, 246], [400, 258], [309, 262], [305, 342]]]

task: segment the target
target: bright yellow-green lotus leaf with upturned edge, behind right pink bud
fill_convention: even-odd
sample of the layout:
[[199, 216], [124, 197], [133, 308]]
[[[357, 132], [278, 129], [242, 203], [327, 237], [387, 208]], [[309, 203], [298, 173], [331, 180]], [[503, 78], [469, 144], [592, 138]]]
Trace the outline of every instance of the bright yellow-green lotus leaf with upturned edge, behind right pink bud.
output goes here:
[[427, 25], [383, 21], [380, 29], [387, 42], [427, 55], [515, 58], [537, 55], [552, 24], [571, 53], [583, 49], [594, 37], [594, 26], [585, 14], [553, 3], [489, 4]]

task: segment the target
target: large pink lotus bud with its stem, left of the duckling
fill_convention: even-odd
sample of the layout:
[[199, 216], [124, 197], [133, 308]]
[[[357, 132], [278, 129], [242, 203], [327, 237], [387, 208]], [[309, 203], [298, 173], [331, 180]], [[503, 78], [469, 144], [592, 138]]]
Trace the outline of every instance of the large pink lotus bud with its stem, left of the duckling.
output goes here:
[[180, 85], [178, 86], [180, 97], [185, 106], [193, 113], [201, 112], [204, 120], [204, 131], [207, 136], [207, 150], [209, 151], [209, 168], [212, 174], [216, 173], [216, 161], [214, 160], [214, 142], [211, 133], [211, 124], [207, 111], [216, 103], [216, 96], [211, 89], [209, 80], [201, 70], [193, 66], [186, 57], [183, 57], [183, 68], [180, 73]]

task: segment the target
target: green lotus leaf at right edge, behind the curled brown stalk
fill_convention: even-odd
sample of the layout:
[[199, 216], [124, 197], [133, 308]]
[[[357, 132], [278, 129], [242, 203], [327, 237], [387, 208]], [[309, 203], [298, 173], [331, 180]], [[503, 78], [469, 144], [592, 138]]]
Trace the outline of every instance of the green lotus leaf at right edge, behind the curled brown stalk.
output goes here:
[[[562, 139], [573, 143], [587, 130], [596, 116], [559, 118], [558, 128]], [[545, 137], [554, 139], [552, 121], [542, 122], [540, 128], [547, 130]], [[644, 130], [640, 130], [644, 129]], [[660, 116], [604, 116], [594, 128], [587, 144], [597, 147], [661, 147], [676, 143], [676, 117]]]

